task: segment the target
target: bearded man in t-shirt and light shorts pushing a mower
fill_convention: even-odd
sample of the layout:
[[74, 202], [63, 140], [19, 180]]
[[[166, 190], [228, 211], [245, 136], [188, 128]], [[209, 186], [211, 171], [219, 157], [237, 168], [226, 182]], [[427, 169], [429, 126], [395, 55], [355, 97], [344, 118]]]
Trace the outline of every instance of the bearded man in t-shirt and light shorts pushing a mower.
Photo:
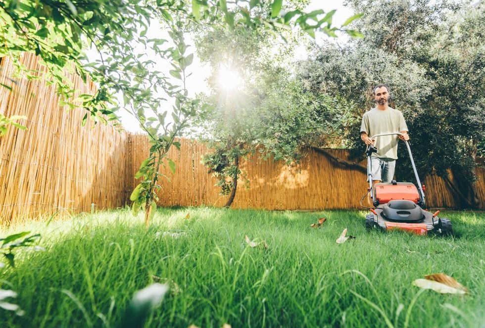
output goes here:
[[[380, 84], [374, 88], [376, 107], [362, 117], [360, 138], [366, 145], [374, 144], [377, 153], [371, 156], [372, 179], [374, 183], [391, 182], [397, 159], [397, 138], [409, 140], [408, 129], [402, 113], [388, 106], [389, 88]], [[383, 136], [372, 140], [370, 136], [399, 131], [402, 136]]]

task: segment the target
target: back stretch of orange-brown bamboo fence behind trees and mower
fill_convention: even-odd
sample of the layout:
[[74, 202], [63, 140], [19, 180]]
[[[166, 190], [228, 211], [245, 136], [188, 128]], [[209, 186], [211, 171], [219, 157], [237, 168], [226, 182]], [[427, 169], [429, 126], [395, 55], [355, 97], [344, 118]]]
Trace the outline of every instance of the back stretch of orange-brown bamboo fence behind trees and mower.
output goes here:
[[[132, 172], [134, 176], [145, 159], [149, 144], [143, 135], [134, 135], [130, 142]], [[204, 144], [181, 140], [180, 151], [172, 147], [168, 153], [176, 165], [172, 174], [169, 167], [160, 173], [169, 177], [162, 180], [158, 193], [160, 206], [223, 206], [228, 196], [219, 194], [215, 187], [217, 180], [207, 173], [201, 164], [201, 157], [210, 149]], [[345, 149], [326, 149], [335, 157], [347, 159]], [[360, 162], [365, 167], [365, 161]], [[360, 208], [360, 200], [367, 191], [365, 173], [340, 167], [334, 161], [314, 150], [309, 150], [301, 163], [290, 168], [281, 162], [260, 161], [258, 155], [242, 160], [241, 169], [249, 181], [238, 182], [238, 190], [232, 207], [260, 208], [268, 210], [317, 210]], [[477, 183], [480, 207], [485, 207], [485, 170], [478, 168]], [[134, 180], [132, 188], [138, 184]], [[437, 176], [424, 180], [429, 207], [457, 207], [453, 193]], [[364, 201], [365, 203], [365, 201]]]

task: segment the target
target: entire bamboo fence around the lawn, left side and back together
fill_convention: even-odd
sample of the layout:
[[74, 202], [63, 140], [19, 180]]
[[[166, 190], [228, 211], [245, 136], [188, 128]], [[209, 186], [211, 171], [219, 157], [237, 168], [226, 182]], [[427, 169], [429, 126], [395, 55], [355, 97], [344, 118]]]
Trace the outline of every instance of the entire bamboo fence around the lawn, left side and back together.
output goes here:
[[[26, 54], [22, 64], [27, 69], [40, 69], [35, 56]], [[13, 66], [1, 61], [0, 83], [7, 84]], [[93, 83], [84, 85], [71, 76], [81, 93], [95, 91]], [[25, 115], [20, 123], [28, 130], [9, 128], [0, 138], [0, 221], [33, 217], [58, 210], [89, 211], [115, 208], [129, 203], [134, 178], [148, 153], [145, 136], [117, 132], [108, 125], [81, 127], [84, 111], [66, 112], [58, 106], [54, 86], [39, 80], [18, 79], [13, 92], [0, 87], [0, 113]], [[181, 150], [174, 147], [169, 156], [176, 173], [162, 168], [171, 181], [161, 181], [159, 206], [222, 206], [227, 196], [219, 194], [216, 179], [200, 163], [209, 149], [196, 141], [182, 140]], [[327, 149], [337, 158], [347, 151]], [[360, 165], [364, 165], [363, 162]], [[296, 168], [271, 160], [259, 161], [257, 155], [242, 161], [249, 181], [241, 181], [234, 208], [343, 209], [359, 208], [367, 190], [362, 170], [340, 167], [327, 156], [310, 150]], [[478, 196], [485, 208], [485, 170], [478, 169]], [[453, 194], [444, 181], [427, 177], [427, 199], [431, 207], [456, 207]]]

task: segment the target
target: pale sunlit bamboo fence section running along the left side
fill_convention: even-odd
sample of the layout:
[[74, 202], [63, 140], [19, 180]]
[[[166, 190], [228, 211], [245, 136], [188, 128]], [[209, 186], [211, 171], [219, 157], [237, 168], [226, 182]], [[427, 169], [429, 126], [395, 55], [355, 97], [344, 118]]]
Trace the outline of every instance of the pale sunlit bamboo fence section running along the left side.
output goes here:
[[[25, 54], [21, 64], [28, 70], [42, 71], [33, 54]], [[89, 211], [121, 206], [127, 198], [125, 153], [129, 134], [109, 125], [81, 126], [85, 111], [67, 112], [59, 107], [55, 86], [43, 77], [28, 81], [17, 77], [12, 84], [14, 66], [2, 58], [0, 82], [10, 84], [12, 92], [0, 87], [0, 113], [25, 115], [19, 123], [27, 130], [9, 127], [0, 138], [1, 221], [45, 215], [56, 211]], [[94, 93], [70, 75], [82, 94]]]

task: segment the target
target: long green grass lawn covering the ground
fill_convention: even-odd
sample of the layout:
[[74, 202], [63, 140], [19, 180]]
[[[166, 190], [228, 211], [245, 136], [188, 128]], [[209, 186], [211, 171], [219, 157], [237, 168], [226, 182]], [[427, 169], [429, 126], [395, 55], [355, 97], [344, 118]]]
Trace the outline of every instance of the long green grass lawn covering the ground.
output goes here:
[[[0, 308], [1, 327], [117, 327], [154, 281], [171, 292], [145, 327], [482, 327], [485, 213], [444, 214], [453, 237], [368, 233], [358, 211], [160, 209], [145, 230], [141, 214], [118, 210], [17, 225], [0, 235], [39, 232], [46, 250], [21, 250], [15, 269], [0, 269], [0, 288], [25, 311]], [[337, 244], [344, 228], [356, 238]], [[411, 284], [440, 272], [471, 293]]]

